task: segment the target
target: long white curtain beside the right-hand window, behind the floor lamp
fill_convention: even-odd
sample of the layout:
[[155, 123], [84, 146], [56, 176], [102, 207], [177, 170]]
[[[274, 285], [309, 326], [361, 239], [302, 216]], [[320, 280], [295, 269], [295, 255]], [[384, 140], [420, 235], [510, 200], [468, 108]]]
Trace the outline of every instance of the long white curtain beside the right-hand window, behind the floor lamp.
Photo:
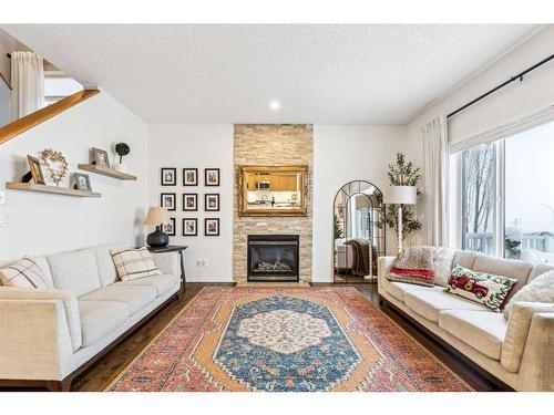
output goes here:
[[449, 142], [445, 117], [423, 128], [423, 183], [427, 243], [448, 246]]

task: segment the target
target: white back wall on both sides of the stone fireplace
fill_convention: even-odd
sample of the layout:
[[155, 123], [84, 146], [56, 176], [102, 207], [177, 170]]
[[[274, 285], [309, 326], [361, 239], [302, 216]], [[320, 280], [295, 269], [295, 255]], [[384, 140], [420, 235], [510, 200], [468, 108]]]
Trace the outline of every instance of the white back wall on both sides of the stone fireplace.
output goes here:
[[[407, 141], [404, 126], [316, 125], [314, 127], [314, 281], [332, 278], [332, 200], [352, 179], [367, 179], [381, 189], [388, 185], [387, 167], [403, 152], [421, 165], [420, 141]], [[177, 186], [160, 185], [160, 168], [177, 168]], [[182, 186], [182, 169], [197, 167], [198, 187]], [[203, 169], [219, 167], [219, 188], [203, 186]], [[151, 125], [148, 138], [148, 205], [160, 204], [161, 193], [177, 194], [177, 236], [171, 243], [187, 245], [187, 281], [233, 281], [233, 125]], [[183, 193], [198, 193], [198, 212], [182, 211]], [[203, 211], [205, 193], [220, 193], [220, 211]], [[204, 237], [203, 219], [220, 218], [220, 236]], [[198, 218], [198, 236], [182, 237], [183, 217]], [[388, 236], [388, 251], [396, 249]], [[197, 267], [197, 259], [207, 267]]]

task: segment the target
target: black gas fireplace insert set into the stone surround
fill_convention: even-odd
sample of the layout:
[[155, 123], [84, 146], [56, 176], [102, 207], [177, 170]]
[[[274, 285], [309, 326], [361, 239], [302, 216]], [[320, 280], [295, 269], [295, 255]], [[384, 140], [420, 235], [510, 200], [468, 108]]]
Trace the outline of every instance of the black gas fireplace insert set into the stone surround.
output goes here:
[[248, 235], [248, 281], [298, 281], [298, 235]]

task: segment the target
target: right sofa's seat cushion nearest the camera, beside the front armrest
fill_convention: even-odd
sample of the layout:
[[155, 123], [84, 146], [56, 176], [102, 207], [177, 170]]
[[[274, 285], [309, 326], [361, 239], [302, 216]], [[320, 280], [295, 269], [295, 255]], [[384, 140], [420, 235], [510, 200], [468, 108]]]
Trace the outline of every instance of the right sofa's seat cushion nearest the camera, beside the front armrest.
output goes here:
[[502, 314], [492, 311], [442, 311], [439, 326], [485, 356], [500, 361], [507, 329]]

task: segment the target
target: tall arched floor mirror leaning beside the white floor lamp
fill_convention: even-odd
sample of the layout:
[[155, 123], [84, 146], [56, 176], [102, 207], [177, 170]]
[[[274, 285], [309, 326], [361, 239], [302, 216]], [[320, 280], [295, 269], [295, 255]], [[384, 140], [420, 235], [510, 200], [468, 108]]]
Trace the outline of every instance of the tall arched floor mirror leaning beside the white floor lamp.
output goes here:
[[334, 282], [377, 281], [377, 258], [386, 255], [382, 193], [366, 180], [342, 186], [334, 203]]

